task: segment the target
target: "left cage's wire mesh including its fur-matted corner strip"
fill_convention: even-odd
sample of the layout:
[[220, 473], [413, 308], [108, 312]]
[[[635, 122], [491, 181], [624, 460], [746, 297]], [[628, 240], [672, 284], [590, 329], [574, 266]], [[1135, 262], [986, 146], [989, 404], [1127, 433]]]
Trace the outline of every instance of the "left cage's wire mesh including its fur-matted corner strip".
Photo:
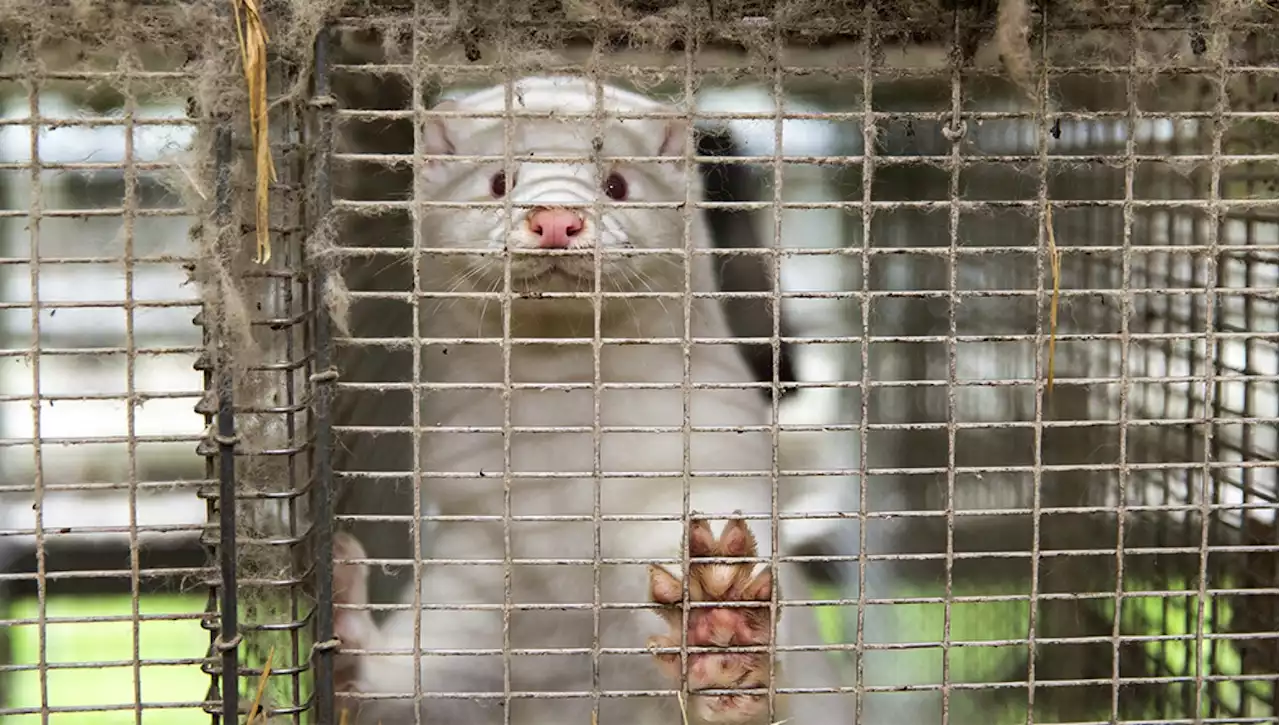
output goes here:
[[237, 8], [6, 6], [0, 28], [0, 720], [297, 721], [316, 346], [293, 54], [264, 58], [256, 263]]

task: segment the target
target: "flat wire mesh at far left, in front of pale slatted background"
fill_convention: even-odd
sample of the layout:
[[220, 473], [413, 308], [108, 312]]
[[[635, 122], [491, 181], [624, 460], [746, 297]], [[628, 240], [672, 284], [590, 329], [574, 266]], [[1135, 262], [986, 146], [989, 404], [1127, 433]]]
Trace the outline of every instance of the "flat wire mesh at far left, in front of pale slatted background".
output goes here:
[[6, 29], [0, 61], [4, 722], [198, 719], [207, 681], [188, 74], [97, 50]]

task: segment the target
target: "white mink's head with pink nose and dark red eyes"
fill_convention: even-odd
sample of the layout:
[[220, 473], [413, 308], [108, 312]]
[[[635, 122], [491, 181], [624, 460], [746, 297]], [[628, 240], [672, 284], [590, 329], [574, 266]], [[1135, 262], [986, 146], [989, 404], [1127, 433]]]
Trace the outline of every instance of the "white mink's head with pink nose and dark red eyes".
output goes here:
[[701, 187], [675, 109], [553, 77], [433, 110], [458, 115], [424, 132], [424, 264], [452, 291], [504, 289], [508, 261], [517, 293], [594, 292], [596, 264], [604, 293], [684, 289], [685, 250], [701, 238], [700, 213], [687, 208], [686, 232], [684, 205]]

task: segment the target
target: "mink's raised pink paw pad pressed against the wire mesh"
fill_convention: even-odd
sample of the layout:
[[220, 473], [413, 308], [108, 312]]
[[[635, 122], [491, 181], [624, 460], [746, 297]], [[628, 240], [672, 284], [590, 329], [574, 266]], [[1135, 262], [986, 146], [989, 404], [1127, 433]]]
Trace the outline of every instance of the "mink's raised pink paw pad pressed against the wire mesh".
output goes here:
[[[733, 519], [719, 538], [705, 520], [689, 526], [690, 557], [754, 557], [755, 537], [746, 521]], [[690, 607], [687, 644], [695, 647], [763, 647], [769, 644], [769, 598], [773, 573], [765, 566], [755, 573], [755, 562], [690, 564], [690, 602], [760, 602], [754, 607]], [[667, 605], [659, 611], [671, 626], [671, 634], [649, 638], [650, 647], [680, 647], [684, 587], [676, 576], [659, 566], [649, 567], [649, 596]], [[658, 667], [680, 681], [678, 652], [659, 652]], [[768, 687], [768, 652], [690, 652], [687, 656], [690, 692], [703, 689], [758, 689]], [[690, 697], [689, 715], [701, 722], [742, 725], [764, 722], [769, 716], [765, 694], [710, 694]]]

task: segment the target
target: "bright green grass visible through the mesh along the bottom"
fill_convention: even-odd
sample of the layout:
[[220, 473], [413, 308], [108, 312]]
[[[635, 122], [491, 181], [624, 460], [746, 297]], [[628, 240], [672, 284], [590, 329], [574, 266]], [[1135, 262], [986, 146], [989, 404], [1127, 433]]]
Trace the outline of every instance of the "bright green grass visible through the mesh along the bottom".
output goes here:
[[[977, 593], [956, 591], [956, 594]], [[989, 592], [988, 592], [989, 593]], [[937, 596], [938, 592], [909, 592], [905, 596]], [[818, 598], [837, 598], [835, 592], [815, 592]], [[141, 601], [142, 614], [198, 614], [204, 610], [204, 596], [145, 596]], [[1194, 606], [1194, 597], [1162, 599], [1158, 597], [1126, 599], [1123, 629], [1130, 634], [1155, 633], [1155, 625], [1161, 621], [1161, 611], [1169, 610], [1167, 619], [1176, 629], [1185, 619], [1188, 606]], [[899, 615], [910, 626], [913, 639], [938, 639], [942, 634], [945, 617], [943, 605], [895, 605]], [[128, 597], [60, 597], [49, 601], [50, 617], [86, 617], [102, 615], [125, 615], [131, 612]], [[1028, 602], [982, 602], [956, 603], [951, 606], [952, 642], [978, 642], [995, 639], [1018, 639], [1027, 637], [1029, 615]], [[13, 619], [35, 617], [36, 601], [18, 599], [12, 602], [5, 616]], [[837, 608], [819, 611], [824, 634], [832, 642], [847, 642], [852, 633], [847, 630], [845, 617]], [[1224, 616], [1220, 611], [1220, 616]], [[1230, 616], [1229, 612], [1225, 616]], [[132, 661], [133, 625], [120, 623], [52, 623], [47, 625], [47, 653], [50, 662], [86, 661]], [[189, 660], [201, 656], [209, 646], [209, 635], [195, 619], [179, 621], [143, 621], [138, 625], [140, 656], [143, 661]], [[1184, 629], [1167, 630], [1162, 634], [1187, 635], [1194, 633]], [[14, 626], [9, 631], [17, 664], [38, 661], [38, 637], [35, 625]], [[1162, 649], [1161, 643], [1151, 643], [1153, 656], [1165, 657], [1169, 670], [1174, 674], [1194, 674], [1193, 662], [1187, 658], [1185, 646], [1174, 643]], [[961, 647], [951, 649], [951, 672], [960, 681], [1000, 681], [1010, 674], [1010, 667], [1025, 657], [1025, 646], [1015, 647]], [[278, 661], [278, 664], [280, 664]], [[1222, 675], [1239, 675], [1240, 662], [1234, 649], [1219, 647], [1216, 662], [1204, 661], [1206, 671]], [[141, 667], [142, 701], [156, 702], [198, 702], [209, 688], [209, 678], [197, 665], [147, 664]], [[1174, 684], [1171, 688], [1180, 685]], [[1189, 687], [1189, 685], [1188, 685]], [[1266, 698], [1262, 683], [1222, 683], [1216, 696], [1220, 699], [1240, 702], [1245, 697], [1244, 688], [1254, 688], [1254, 697]], [[109, 712], [70, 712], [55, 713], [50, 721], [56, 725], [124, 725], [136, 722], [132, 705], [134, 672], [129, 665], [51, 670], [49, 674], [49, 703], [54, 707], [69, 706], [123, 706]], [[23, 671], [8, 675], [5, 692], [9, 694], [9, 707], [36, 707], [40, 705], [40, 676], [36, 671]], [[989, 699], [980, 701], [983, 722], [991, 725], [1012, 725], [1027, 722], [1027, 694], [1021, 689], [1005, 690], [1006, 698], [992, 710]], [[1178, 694], [1170, 692], [1171, 696]], [[973, 702], [970, 702], [973, 701]], [[1007, 702], [1006, 702], [1007, 701]], [[952, 712], [957, 720], [968, 720], [979, 707], [979, 698], [957, 693], [952, 697]], [[1178, 702], [1176, 699], [1174, 702]], [[1110, 703], [1100, 703], [1101, 717], [1106, 717]], [[1166, 716], [1185, 713], [1165, 713]], [[1263, 715], [1263, 713], [1258, 713]], [[1161, 713], [1152, 713], [1158, 721]], [[10, 716], [4, 725], [38, 724], [37, 715]], [[1037, 712], [1037, 721], [1053, 721], [1051, 712]], [[142, 722], [155, 725], [207, 725], [209, 716], [198, 707], [143, 710]]]

